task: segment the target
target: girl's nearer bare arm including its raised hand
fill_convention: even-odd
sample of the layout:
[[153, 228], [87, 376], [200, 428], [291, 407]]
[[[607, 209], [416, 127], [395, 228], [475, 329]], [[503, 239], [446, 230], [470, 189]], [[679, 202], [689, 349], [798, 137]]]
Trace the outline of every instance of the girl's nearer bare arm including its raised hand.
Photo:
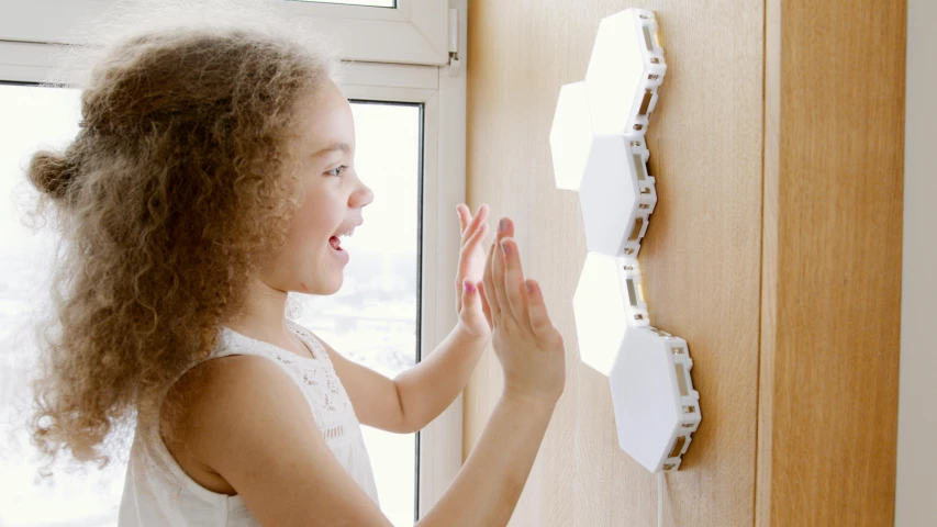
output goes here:
[[[499, 526], [514, 511], [562, 392], [564, 344], [536, 282], [524, 280], [517, 245], [504, 240], [484, 272], [504, 391], [456, 480], [417, 525]], [[264, 525], [389, 526], [332, 456], [309, 405], [266, 359], [207, 361], [180, 395], [187, 450], [242, 495]]]

